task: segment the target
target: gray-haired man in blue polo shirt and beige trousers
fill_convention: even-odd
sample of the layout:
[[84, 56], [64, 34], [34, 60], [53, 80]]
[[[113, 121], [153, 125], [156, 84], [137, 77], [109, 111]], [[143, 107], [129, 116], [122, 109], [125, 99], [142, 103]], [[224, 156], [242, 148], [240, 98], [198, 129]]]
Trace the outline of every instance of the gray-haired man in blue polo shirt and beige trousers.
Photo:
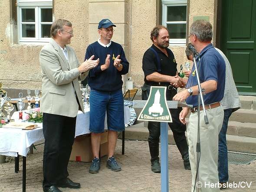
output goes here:
[[[223, 107], [220, 101], [224, 95], [226, 65], [222, 56], [211, 44], [213, 37], [212, 25], [204, 20], [197, 20], [190, 27], [190, 42], [199, 53], [197, 57], [197, 69], [202, 89], [205, 95], [203, 101], [209, 124], [204, 122], [203, 107], [198, 106], [198, 86], [195, 74], [195, 65], [187, 81], [184, 91], [179, 92], [173, 98], [174, 101], [183, 101], [192, 104], [189, 123], [187, 123], [187, 137], [189, 143], [189, 158], [192, 172], [192, 189], [194, 190], [197, 173], [197, 113], [200, 113], [200, 163], [199, 181], [202, 183], [201, 191], [219, 191], [218, 187], [218, 135], [223, 122]], [[198, 112], [197, 112], [198, 110]], [[180, 113], [180, 120], [186, 124], [185, 117], [189, 108], [184, 107]], [[210, 185], [214, 184], [211, 188]], [[207, 189], [205, 189], [207, 188]]]

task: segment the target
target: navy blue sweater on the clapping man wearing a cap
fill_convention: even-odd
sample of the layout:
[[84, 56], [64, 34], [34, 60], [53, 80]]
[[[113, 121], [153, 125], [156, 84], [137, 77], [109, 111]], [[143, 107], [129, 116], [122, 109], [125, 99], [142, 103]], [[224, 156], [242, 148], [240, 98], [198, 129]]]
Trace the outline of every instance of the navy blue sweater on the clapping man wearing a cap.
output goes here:
[[[102, 71], [101, 65], [105, 64], [107, 55], [110, 55], [109, 68]], [[113, 54], [115, 57], [120, 55], [121, 64], [123, 68], [121, 72], [114, 66]], [[92, 89], [98, 91], [116, 91], [122, 88], [123, 81], [122, 76], [128, 73], [129, 63], [125, 58], [125, 52], [122, 46], [116, 42], [111, 42], [109, 47], [101, 46], [98, 41], [90, 44], [85, 52], [85, 59], [89, 59], [92, 55], [95, 55], [94, 59], [99, 58], [99, 65], [92, 68], [88, 75], [88, 84]]]

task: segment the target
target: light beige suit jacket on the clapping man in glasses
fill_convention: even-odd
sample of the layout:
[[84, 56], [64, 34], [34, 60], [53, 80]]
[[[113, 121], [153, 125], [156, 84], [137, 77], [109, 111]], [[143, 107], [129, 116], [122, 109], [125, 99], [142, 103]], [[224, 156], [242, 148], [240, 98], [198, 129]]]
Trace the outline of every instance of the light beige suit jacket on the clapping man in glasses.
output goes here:
[[[75, 117], [79, 105], [82, 111], [84, 108], [78, 80], [85, 79], [89, 71], [80, 75], [78, 70], [79, 61], [74, 49], [70, 46], [66, 46], [66, 49], [69, 62], [59, 47], [59, 44], [54, 39], [51, 39], [41, 49], [39, 60], [43, 78], [40, 111], [43, 113]], [[79, 99], [79, 104], [76, 101], [75, 92]]]

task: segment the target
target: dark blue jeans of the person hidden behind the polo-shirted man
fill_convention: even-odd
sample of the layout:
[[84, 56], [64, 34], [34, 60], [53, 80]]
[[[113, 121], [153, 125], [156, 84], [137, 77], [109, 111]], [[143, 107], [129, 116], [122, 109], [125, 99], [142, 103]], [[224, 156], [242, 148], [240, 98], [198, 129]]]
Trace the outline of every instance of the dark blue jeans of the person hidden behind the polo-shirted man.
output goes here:
[[219, 155], [218, 155], [218, 172], [219, 181], [228, 181], [228, 159], [227, 159], [227, 147], [226, 147], [226, 130], [228, 120], [232, 114], [233, 109], [224, 110], [223, 124], [219, 133]]

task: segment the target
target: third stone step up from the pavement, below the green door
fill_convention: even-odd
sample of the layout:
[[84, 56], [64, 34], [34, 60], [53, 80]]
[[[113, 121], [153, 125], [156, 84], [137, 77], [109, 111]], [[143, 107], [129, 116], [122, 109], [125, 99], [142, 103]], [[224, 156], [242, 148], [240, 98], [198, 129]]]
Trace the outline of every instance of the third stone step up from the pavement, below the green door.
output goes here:
[[232, 113], [229, 120], [242, 123], [256, 123], [256, 110], [239, 109]]

